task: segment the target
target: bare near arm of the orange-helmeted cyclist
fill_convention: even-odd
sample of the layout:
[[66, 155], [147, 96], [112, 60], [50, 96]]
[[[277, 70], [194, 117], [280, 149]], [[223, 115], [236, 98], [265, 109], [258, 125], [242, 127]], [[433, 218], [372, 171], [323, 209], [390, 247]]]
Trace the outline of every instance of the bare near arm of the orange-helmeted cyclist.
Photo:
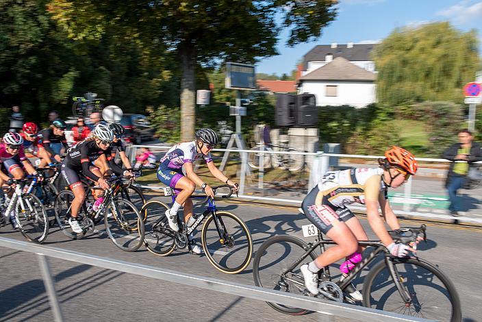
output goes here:
[[379, 194], [380, 194], [380, 175], [373, 175], [365, 183], [365, 205], [366, 217], [373, 232], [381, 240], [383, 245], [388, 246], [393, 243], [392, 237], [388, 234], [383, 224], [383, 219], [379, 216]]

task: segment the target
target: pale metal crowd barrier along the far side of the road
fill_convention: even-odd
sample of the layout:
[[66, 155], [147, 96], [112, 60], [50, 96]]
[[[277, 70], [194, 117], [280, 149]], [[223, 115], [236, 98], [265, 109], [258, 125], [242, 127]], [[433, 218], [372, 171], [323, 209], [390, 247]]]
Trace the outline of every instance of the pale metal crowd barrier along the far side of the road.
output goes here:
[[[161, 149], [161, 150], [167, 150], [170, 149], [171, 145], [131, 145], [127, 147], [126, 153], [129, 156], [130, 160], [134, 162], [135, 156], [136, 156], [136, 149], [140, 147], [148, 147], [149, 149]], [[288, 203], [288, 204], [294, 204], [294, 205], [299, 205], [301, 204], [301, 200], [296, 200], [296, 199], [281, 199], [281, 198], [273, 198], [273, 197], [264, 197], [264, 196], [253, 196], [253, 195], [246, 195], [245, 193], [245, 188], [246, 188], [246, 167], [249, 165], [247, 164], [246, 156], [248, 153], [260, 153], [260, 158], [262, 159], [262, 156], [264, 154], [298, 154], [298, 155], [303, 155], [306, 157], [312, 157], [313, 160], [310, 162], [311, 166], [309, 168], [309, 185], [308, 185], [308, 190], [310, 190], [312, 187], [314, 187], [317, 183], [320, 177], [327, 171], [329, 171], [329, 160], [330, 158], [362, 158], [362, 159], [374, 159], [377, 160], [378, 158], [382, 158], [381, 156], [362, 156], [362, 155], [355, 155], [355, 154], [339, 154], [339, 153], [324, 153], [324, 152], [316, 152], [316, 153], [307, 153], [307, 152], [292, 152], [292, 151], [265, 151], [265, 150], [241, 150], [241, 149], [214, 149], [213, 151], [224, 151], [224, 152], [229, 152], [229, 153], [240, 153], [241, 156], [241, 171], [240, 171], [240, 193], [238, 195], [239, 198], [241, 199], [249, 199], [249, 200], [260, 200], [260, 201], [275, 201], [279, 203]], [[437, 163], [450, 163], [451, 161], [446, 160], [446, 159], [433, 159], [433, 158], [416, 158], [418, 161], [422, 162], [437, 162]], [[482, 164], [481, 162], [477, 162], [478, 164]], [[263, 162], [259, 162], [260, 165], [263, 164]], [[262, 166], [259, 169], [258, 173], [258, 182], [262, 184], [263, 182], [263, 177], [264, 177], [264, 169]], [[403, 191], [403, 196], [401, 198], [413, 198], [411, 197], [411, 190], [412, 190], [412, 182], [413, 182], [413, 177], [410, 177], [408, 182], [404, 185], [404, 191]], [[141, 188], [145, 189], [162, 189], [162, 186], [140, 186]], [[422, 199], [427, 199], [427, 198], [422, 198]], [[428, 198], [430, 199], [430, 198]], [[447, 199], [448, 200], [448, 199]], [[353, 208], [355, 210], [366, 210], [366, 208], [362, 206], [350, 206], [350, 208]], [[436, 214], [433, 212], [414, 212], [409, 210], [409, 205], [404, 204], [403, 210], [394, 210], [396, 214], [402, 215], [402, 216], [407, 216], [407, 217], [420, 217], [420, 218], [427, 218], [427, 219], [442, 219], [442, 220], [448, 220], [451, 221], [454, 219], [453, 216], [448, 215], [448, 214]], [[457, 221], [459, 222], [466, 222], [466, 223], [476, 223], [476, 224], [482, 224], [482, 216], [480, 218], [472, 218], [468, 216], [457, 216]]]

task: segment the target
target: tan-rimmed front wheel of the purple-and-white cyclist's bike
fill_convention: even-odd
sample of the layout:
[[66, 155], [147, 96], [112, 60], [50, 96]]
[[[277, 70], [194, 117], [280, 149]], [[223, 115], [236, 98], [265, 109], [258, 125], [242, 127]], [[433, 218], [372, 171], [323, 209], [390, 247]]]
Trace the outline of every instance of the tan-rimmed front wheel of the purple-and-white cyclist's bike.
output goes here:
[[251, 262], [251, 234], [244, 221], [231, 212], [207, 217], [201, 238], [207, 259], [223, 273], [237, 274]]

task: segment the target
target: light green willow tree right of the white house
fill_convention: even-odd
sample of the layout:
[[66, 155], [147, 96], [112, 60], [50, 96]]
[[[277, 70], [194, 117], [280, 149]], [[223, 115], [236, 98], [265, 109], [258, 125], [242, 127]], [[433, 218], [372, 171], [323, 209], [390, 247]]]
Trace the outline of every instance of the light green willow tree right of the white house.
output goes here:
[[452, 101], [474, 79], [479, 64], [477, 33], [449, 23], [395, 29], [374, 51], [380, 103]]

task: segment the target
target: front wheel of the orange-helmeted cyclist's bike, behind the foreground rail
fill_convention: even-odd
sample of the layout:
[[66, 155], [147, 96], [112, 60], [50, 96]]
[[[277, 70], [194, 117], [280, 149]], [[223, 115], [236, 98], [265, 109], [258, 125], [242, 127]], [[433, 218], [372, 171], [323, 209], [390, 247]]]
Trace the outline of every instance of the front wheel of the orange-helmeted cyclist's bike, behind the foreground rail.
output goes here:
[[435, 321], [461, 321], [459, 295], [442, 271], [414, 258], [392, 263], [410, 303], [403, 301], [383, 260], [365, 277], [364, 306]]

